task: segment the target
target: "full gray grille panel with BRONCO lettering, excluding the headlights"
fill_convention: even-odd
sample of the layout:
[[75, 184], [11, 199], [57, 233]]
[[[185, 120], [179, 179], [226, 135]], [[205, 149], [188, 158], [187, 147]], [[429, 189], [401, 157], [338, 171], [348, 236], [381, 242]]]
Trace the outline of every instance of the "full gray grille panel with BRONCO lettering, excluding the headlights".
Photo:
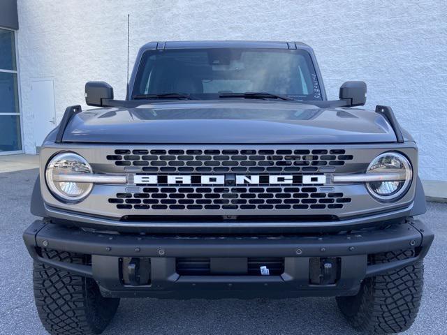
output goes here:
[[[332, 179], [365, 173], [376, 156], [395, 149], [393, 143], [76, 144], [77, 154], [94, 173], [126, 174], [127, 183], [95, 184], [85, 200], [68, 204], [54, 198], [45, 183], [42, 193], [52, 209], [125, 221], [132, 227], [132, 222], [189, 228], [214, 222], [217, 227], [247, 228], [261, 221], [265, 227], [279, 221], [283, 226], [335, 222], [411, 203], [415, 183], [397, 202], [381, 203], [365, 184]], [[50, 160], [58, 150], [43, 149], [42, 160]], [[414, 148], [399, 150], [417, 161]], [[282, 184], [286, 179], [291, 183]]]

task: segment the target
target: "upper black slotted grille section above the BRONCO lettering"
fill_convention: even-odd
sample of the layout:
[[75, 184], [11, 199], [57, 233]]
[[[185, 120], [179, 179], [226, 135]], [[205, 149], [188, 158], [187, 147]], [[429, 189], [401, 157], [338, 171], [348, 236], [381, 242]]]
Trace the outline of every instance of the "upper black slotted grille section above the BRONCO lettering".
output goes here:
[[108, 155], [117, 166], [142, 172], [316, 172], [353, 159], [344, 149], [117, 149]]

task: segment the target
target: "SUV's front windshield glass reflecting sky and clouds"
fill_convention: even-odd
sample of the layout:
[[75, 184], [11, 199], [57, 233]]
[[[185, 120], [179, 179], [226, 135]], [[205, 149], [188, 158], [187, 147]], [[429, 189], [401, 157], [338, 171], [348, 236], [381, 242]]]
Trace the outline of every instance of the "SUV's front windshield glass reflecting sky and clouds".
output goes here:
[[308, 52], [249, 48], [148, 50], [132, 98], [175, 93], [211, 99], [247, 92], [322, 100]]

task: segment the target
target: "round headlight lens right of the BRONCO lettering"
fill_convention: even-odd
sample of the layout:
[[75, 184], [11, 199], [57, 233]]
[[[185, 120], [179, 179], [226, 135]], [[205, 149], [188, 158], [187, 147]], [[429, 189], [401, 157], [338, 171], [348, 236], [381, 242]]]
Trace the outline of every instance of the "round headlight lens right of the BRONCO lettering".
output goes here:
[[403, 155], [386, 152], [374, 158], [369, 164], [367, 173], [395, 174], [397, 180], [372, 181], [366, 184], [369, 193], [379, 200], [395, 200], [403, 195], [411, 184], [413, 170]]

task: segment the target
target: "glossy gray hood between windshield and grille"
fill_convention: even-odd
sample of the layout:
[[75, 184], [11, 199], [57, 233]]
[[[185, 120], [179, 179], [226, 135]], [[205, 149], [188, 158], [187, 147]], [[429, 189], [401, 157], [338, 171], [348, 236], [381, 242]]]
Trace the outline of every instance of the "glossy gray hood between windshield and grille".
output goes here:
[[288, 101], [173, 101], [76, 114], [65, 142], [300, 144], [395, 142], [381, 114]]

